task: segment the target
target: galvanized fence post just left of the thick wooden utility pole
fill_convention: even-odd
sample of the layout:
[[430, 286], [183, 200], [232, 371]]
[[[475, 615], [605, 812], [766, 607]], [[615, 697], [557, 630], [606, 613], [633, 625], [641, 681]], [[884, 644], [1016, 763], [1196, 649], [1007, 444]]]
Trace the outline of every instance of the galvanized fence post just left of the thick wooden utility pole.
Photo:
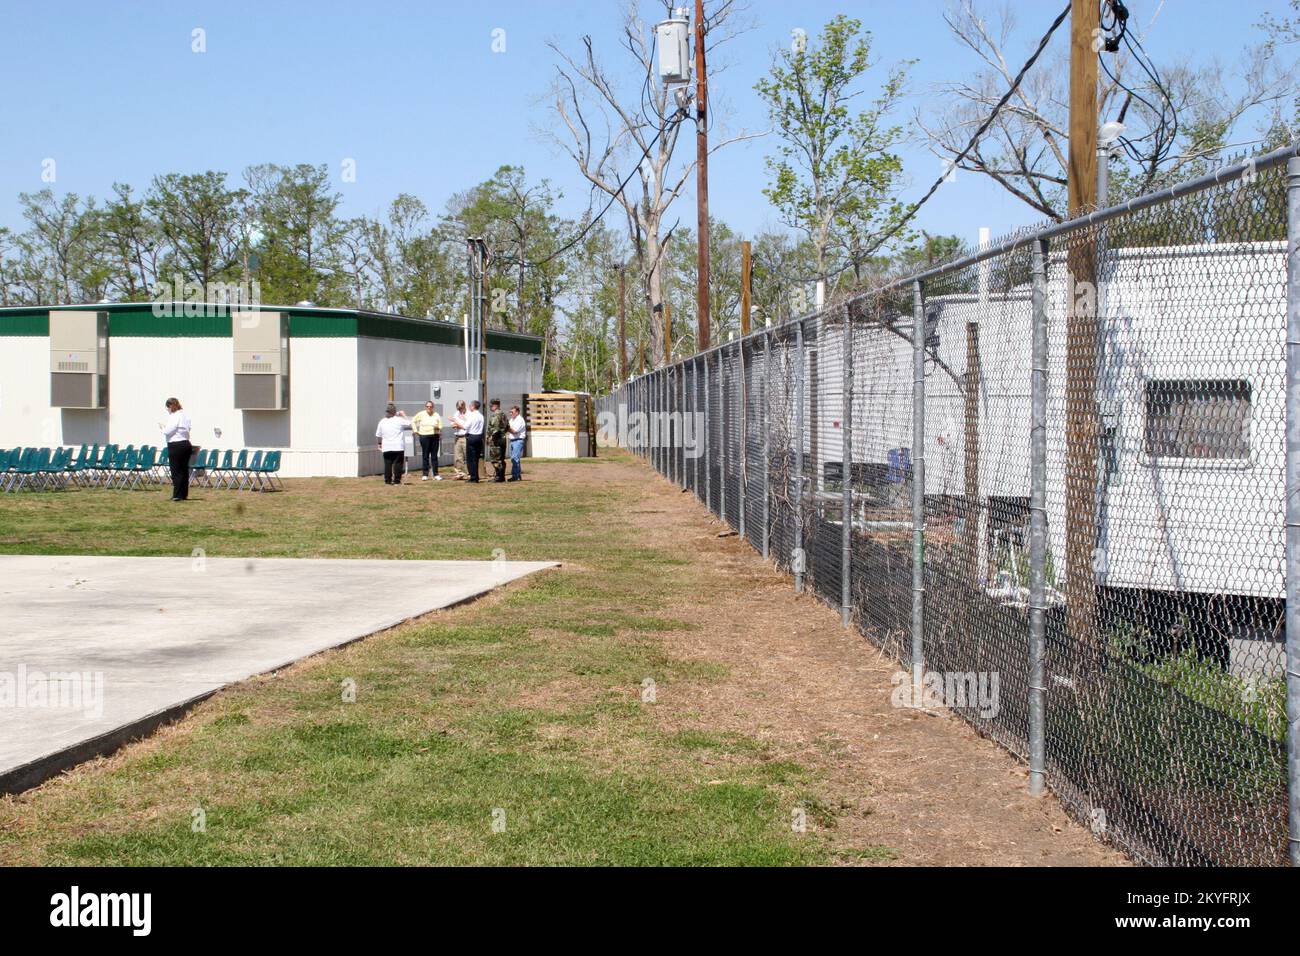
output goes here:
[[1030, 793], [1046, 783], [1048, 243], [1034, 242], [1030, 360]]

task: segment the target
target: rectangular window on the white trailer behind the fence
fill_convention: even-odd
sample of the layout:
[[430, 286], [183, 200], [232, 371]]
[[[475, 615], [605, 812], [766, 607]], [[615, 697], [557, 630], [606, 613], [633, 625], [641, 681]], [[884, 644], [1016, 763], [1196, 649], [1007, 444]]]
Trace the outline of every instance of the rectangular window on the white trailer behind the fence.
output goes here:
[[1152, 458], [1251, 457], [1251, 384], [1244, 378], [1147, 382]]

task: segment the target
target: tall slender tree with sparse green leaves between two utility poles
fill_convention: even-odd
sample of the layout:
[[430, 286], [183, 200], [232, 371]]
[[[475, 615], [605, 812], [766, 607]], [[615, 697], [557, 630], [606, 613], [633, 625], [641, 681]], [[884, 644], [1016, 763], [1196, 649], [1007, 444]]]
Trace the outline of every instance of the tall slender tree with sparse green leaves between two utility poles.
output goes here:
[[892, 68], [871, 105], [857, 111], [853, 100], [874, 65], [871, 34], [840, 14], [818, 43], [781, 49], [754, 86], [781, 139], [767, 160], [772, 179], [763, 195], [807, 237], [823, 278], [837, 243], [846, 255], [864, 255], [904, 213], [894, 199], [902, 160], [893, 152], [902, 129], [889, 125], [889, 114], [904, 94], [907, 65]]

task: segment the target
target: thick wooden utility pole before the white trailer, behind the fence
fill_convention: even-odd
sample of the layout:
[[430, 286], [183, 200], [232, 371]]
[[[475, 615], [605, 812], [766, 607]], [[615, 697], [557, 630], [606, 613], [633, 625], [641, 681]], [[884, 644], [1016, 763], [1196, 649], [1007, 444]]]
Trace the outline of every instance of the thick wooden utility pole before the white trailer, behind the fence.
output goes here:
[[[1097, 0], [1071, 0], [1070, 13], [1070, 216], [1097, 204]], [[1091, 232], [1091, 230], [1089, 230]], [[1066, 242], [1070, 295], [1066, 319], [1065, 575], [1066, 628], [1075, 646], [1096, 633], [1097, 572], [1097, 294], [1096, 242], [1089, 232]]]

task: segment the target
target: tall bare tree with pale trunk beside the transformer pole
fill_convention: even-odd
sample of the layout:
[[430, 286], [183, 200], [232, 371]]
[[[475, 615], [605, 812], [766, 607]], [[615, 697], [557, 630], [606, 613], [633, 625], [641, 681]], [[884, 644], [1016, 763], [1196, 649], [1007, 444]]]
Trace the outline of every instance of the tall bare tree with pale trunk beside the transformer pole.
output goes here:
[[[666, 0], [664, 10], [671, 7], [671, 0]], [[706, 56], [742, 29], [734, 17], [733, 0], [719, 0], [711, 7], [705, 20]], [[549, 46], [559, 57], [551, 95], [562, 131], [547, 135], [595, 190], [621, 207], [645, 294], [650, 354], [663, 355], [664, 221], [668, 207], [696, 169], [694, 157], [673, 163], [688, 103], [659, 83], [651, 26], [638, 16], [634, 0], [623, 12], [620, 46], [633, 61], [625, 85], [616, 79], [620, 74], [602, 65], [590, 36], [582, 38], [576, 56], [558, 43]], [[753, 135], [741, 131], [720, 137], [708, 152]], [[632, 164], [638, 164], [634, 173]]]

